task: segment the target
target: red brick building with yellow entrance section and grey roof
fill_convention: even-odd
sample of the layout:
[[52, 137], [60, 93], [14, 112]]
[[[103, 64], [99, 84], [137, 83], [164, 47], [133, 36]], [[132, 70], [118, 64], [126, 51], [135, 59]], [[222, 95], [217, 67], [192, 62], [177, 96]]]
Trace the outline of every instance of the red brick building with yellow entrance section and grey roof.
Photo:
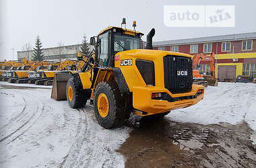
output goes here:
[[[254, 44], [254, 45], [253, 45]], [[256, 32], [210, 36], [153, 43], [155, 50], [170, 50], [187, 54], [215, 53], [216, 77], [234, 81], [238, 75], [256, 77]], [[210, 65], [200, 62], [199, 70], [210, 74]]]

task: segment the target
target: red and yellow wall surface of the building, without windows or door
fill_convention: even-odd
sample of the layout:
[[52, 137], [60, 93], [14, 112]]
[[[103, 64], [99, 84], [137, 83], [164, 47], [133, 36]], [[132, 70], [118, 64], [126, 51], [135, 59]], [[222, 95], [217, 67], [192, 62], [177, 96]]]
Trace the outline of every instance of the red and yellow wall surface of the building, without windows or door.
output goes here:
[[[236, 77], [238, 75], [251, 76], [251, 74], [253, 74], [253, 76], [256, 77], [256, 68], [254, 69], [254, 71], [250, 71], [249, 74], [243, 73], [243, 65], [247, 65], [249, 67], [251, 66], [253, 67], [255, 65], [256, 67], [256, 39], [245, 38], [245, 40], [252, 40], [251, 50], [242, 50], [243, 40], [234, 40], [234, 41], [224, 40], [221, 42], [205, 42], [205, 43], [212, 43], [212, 52], [215, 53], [215, 58], [216, 58], [216, 78], [218, 78], [218, 66], [236, 66]], [[222, 51], [222, 42], [230, 42], [229, 51], [226, 51], [226, 52]], [[195, 43], [198, 45], [197, 53], [204, 53], [203, 45], [205, 43]], [[166, 45], [164, 46], [164, 50], [170, 51], [172, 46], [177, 46], [177, 45], [176, 44]], [[190, 52], [191, 44], [180, 44], [178, 46], [179, 46], [179, 52], [183, 52], [191, 55], [197, 54], [197, 53]], [[154, 46], [154, 49], [158, 50], [160, 47], [163, 47], [163, 46]], [[205, 62], [200, 62], [200, 64], [205, 65]]]

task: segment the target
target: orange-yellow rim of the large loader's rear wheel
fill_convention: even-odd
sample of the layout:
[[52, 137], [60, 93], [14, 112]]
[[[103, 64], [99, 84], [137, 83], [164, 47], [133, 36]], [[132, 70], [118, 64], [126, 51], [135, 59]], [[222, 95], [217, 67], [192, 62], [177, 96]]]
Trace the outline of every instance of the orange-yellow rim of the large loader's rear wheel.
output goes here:
[[102, 118], [105, 118], [106, 116], [108, 116], [109, 103], [108, 103], [108, 97], [106, 97], [105, 93], [100, 93], [100, 95], [98, 95], [97, 106], [98, 106], [98, 113]]

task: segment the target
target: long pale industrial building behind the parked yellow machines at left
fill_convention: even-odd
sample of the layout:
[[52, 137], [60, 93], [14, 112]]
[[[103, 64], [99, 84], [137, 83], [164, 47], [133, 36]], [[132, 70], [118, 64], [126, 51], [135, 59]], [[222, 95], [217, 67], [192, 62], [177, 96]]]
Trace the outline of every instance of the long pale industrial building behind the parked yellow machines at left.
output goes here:
[[[59, 62], [62, 60], [76, 60], [82, 44], [74, 44], [69, 46], [58, 46], [52, 48], [43, 48], [44, 60]], [[90, 46], [92, 50], [94, 46]], [[26, 58], [32, 60], [34, 50], [18, 51], [18, 60]]]

